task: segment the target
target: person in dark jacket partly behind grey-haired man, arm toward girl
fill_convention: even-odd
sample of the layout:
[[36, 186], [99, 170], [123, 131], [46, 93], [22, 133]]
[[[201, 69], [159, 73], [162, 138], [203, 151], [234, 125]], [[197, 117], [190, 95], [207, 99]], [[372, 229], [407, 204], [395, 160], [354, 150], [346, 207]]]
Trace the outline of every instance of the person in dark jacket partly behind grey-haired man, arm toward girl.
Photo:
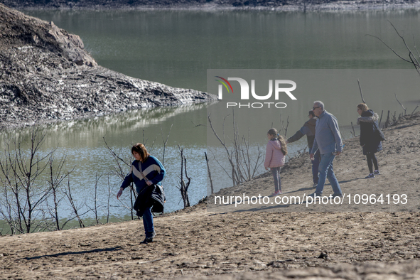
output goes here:
[[[309, 111], [308, 118], [309, 120], [305, 122], [305, 124], [303, 124], [301, 129], [296, 131], [294, 136], [291, 136], [289, 139], [287, 139], [286, 143], [293, 143], [294, 141], [298, 141], [299, 139], [301, 139], [303, 135], [306, 135], [306, 138], [308, 140], [309, 154], [311, 154], [313, 141], [315, 140], [315, 125], [316, 125], [316, 120], [318, 118], [315, 117], [315, 114], [313, 113], [312, 110]], [[318, 149], [318, 151], [316, 151], [315, 153], [315, 158], [312, 161], [312, 180], [313, 180], [312, 188], [316, 188], [316, 186], [318, 185], [319, 161], [320, 161], [320, 154], [319, 154], [319, 149]]]

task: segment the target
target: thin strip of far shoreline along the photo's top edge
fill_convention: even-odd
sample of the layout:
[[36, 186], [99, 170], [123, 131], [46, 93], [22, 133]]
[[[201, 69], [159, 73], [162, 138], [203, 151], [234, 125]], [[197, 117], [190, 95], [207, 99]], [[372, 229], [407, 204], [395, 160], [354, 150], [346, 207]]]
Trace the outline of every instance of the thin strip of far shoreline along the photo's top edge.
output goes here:
[[419, 0], [0, 0], [17, 9], [395, 9]]

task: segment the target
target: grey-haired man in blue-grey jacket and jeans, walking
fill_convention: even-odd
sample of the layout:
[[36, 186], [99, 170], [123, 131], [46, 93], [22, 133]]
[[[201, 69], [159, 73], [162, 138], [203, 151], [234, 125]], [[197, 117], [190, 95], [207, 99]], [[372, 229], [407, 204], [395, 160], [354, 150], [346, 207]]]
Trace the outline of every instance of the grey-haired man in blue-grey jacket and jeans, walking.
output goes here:
[[335, 156], [341, 154], [343, 150], [343, 141], [341, 141], [340, 129], [338, 128], [337, 119], [333, 114], [328, 113], [324, 109], [324, 104], [321, 101], [313, 102], [313, 113], [318, 117], [315, 127], [315, 141], [311, 151], [311, 160], [316, 151], [319, 149], [321, 152], [321, 162], [319, 163], [319, 178], [318, 186], [315, 193], [311, 197], [321, 196], [325, 185], [325, 180], [328, 178], [331, 187], [333, 187], [333, 198], [339, 196], [343, 197], [341, 193], [340, 184], [335, 178], [333, 170], [333, 161]]

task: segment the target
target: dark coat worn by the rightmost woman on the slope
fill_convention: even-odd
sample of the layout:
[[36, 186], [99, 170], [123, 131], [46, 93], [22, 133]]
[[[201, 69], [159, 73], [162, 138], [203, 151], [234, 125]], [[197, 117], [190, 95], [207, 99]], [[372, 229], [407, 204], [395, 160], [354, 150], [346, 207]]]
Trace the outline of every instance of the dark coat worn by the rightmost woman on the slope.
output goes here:
[[382, 142], [375, 137], [375, 130], [379, 129], [377, 124], [379, 117], [371, 109], [362, 112], [357, 118], [360, 124], [360, 146], [363, 146], [363, 154], [375, 154], [382, 151]]

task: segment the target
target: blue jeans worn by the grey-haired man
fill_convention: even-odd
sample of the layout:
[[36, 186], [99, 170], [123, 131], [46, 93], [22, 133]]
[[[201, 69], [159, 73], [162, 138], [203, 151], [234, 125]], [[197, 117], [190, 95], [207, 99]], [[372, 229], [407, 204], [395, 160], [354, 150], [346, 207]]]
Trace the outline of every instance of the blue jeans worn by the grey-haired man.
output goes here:
[[338, 184], [337, 178], [335, 178], [334, 170], [333, 170], [333, 161], [335, 155], [333, 153], [328, 154], [321, 154], [321, 162], [319, 163], [319, 178], [318, 178], [318, 186], [316, 187], [315, 193], [322, 194], [325, 180], [328, 178], [330, 181], [331, 187], [333, 187], [333, 191], [335, 194], [342, 194], [340, 185]]

